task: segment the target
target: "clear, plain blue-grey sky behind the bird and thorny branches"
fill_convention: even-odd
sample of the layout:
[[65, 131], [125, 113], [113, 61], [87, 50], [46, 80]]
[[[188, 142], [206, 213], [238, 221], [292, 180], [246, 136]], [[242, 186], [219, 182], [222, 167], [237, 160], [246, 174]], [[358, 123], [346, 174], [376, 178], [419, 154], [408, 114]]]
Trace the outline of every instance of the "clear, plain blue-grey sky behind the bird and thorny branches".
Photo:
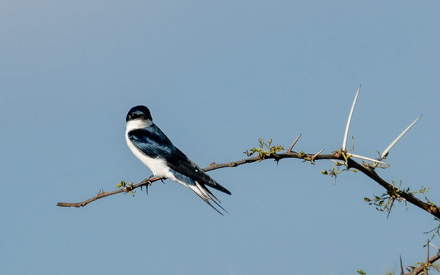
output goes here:
[[[124, 140], [137, 104], [200, 166], [258, 138], [331, 153], [355, 91], [355, 153], [440, 203], [440, 2], [1, 1], [0, 274], [383, 274], [426, 259], [432, 217], [391, 216], [361, 174], [336, 185], [298, 159], [210, 175], [222, 217], [165, 181], [58, 208], [151, 175]], [[349, 142], [351, 144], [351, 142]], [[423, 196], [421, 196], [423, 198]], [[440, 245], [440, 239], [434, 239]]]

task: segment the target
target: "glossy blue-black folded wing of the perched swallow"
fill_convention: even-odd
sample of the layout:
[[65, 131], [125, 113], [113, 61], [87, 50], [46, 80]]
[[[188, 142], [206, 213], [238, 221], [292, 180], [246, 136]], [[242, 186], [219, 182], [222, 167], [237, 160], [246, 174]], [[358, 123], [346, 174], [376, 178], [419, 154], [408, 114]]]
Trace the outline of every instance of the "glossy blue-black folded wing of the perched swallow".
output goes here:
[[128, 133], [129, 139], [149, 157], [164, 157], [168, 166], [186, 175], [199, 184], [210, 186], [221, 192], [231, 195], [231, 192], [206, 174], [197, 164], [175, 147], [173, 143], [155, 124], [144, 129], [137, 129]]

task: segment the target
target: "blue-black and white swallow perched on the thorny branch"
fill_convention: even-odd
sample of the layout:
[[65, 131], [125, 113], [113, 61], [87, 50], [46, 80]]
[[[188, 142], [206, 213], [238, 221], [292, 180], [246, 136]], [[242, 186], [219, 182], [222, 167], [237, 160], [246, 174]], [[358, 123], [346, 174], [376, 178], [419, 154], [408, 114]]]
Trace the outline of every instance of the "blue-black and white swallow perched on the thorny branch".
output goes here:
[[179, 148], [174, 146], [173, 142], [153, 122], [147, 107], [138, 105], [127, 113], [125, 139], [131, 152], [150, 168], [155, 177], [176, 181], [190, 188], [219, 214], [223, 215], [210, 201], [228, 213], [220, 206], [219, 199], [212, 194], [207, 186], [228, 195], [231, 195], [231, 192], [212, 179]]

